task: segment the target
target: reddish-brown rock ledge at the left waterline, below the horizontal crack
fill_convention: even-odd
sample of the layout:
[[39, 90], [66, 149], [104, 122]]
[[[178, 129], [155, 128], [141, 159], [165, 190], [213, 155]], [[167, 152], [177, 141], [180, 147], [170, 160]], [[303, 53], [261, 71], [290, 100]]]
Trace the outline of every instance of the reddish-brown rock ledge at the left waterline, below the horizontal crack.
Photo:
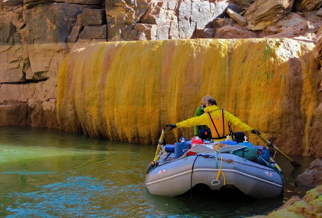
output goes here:
[[0, 86], [0, 125], [58, 128], [56, 80]]

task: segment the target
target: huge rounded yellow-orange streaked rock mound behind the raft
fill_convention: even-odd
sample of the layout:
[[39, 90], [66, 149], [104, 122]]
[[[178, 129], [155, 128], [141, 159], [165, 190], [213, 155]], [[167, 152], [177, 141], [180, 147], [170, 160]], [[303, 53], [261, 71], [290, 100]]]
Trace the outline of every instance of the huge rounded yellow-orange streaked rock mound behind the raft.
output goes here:
[[[309, 137], [306, 120], [314, 116], [309, 95], [316, 86], [309, 64], [313, 46], [284, 38], [90, 45], [60, 65], [59, 125], [90, 136], [154, 144], [163, 126], [194, 116], [201, 97], [211, 95], [220, 108], [284, 148], [300, 147]], [[166, 133], [170, 143], [181, 136], [192, 137], [193, 128]]]

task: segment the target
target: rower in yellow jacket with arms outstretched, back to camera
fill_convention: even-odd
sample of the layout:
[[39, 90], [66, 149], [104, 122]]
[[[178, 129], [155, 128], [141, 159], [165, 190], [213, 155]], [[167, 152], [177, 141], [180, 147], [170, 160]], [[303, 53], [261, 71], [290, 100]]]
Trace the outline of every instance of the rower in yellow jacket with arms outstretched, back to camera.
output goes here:
[[190, 119], [184, 120], [176, 124], [167, 124], [166, 126], [170, 129], [176, 127], [191, 127], [195, 125], [207, 125], [212, 134], [212, 139], [217, 141], [224, 140], [227, 135], [231, 135], [230, 125], [236, 126], [243, 131], [251, 131], [253, 134], [261, 134], [258, 130], [253, 129], [244, 122], [241, 122], [237, 117], [225, 110], [220, 110], [216, 105], [214, 99], [209, 99], [206, 103], [206, 108], [204, 108], [205, 113], [192, 117]]

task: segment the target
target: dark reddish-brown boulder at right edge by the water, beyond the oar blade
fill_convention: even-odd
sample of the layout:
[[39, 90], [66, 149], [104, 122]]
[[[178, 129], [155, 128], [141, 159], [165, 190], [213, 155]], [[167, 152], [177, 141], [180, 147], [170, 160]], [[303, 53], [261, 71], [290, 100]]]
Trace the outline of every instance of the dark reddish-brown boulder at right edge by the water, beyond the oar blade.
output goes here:
[[322, 160], [315, 159], [310, 168], [306, 169], [304, 173], [300, 174], [295, 179], [295, 186], [305, 188], [315, 188], [322, 185]]

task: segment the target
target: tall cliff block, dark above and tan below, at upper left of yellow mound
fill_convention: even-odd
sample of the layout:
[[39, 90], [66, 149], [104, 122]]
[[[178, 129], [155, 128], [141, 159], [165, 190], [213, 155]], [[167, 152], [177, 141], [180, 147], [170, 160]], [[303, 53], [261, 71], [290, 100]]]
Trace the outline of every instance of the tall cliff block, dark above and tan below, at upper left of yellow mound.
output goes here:
[[26, 11], [26, 44], [30, 68], [28, 80], [55, 77], [57, 66], [67, 54], [67, 36], [76, 16], [89, 6], [68, 3], [38, 5]]

